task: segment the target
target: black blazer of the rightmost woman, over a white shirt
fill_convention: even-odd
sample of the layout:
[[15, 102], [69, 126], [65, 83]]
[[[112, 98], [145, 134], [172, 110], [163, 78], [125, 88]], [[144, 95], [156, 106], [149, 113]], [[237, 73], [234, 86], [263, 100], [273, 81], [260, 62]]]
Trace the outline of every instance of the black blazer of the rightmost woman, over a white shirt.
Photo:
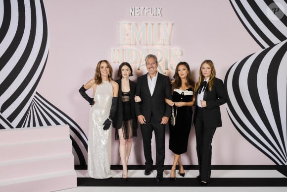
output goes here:
[[[193, 123], [195, 124], [196, 114], [197, 114], [197, 95], [198, 89], [196, 90], [195, 99], [195, 112], [193, 117]], [[223, 81], [221, 79], [215, 78], [212, 85], [211, 91], [209, 91], [208, 84], [206, 86], [203, 100], [206, 101], [206, 107], [203, 109], [203, 122], [207, 128], [218, 128], [222, 127], [221, 123], [221, 113], [219, 106], [226, 103], [227, 96], [225, 93]]]

